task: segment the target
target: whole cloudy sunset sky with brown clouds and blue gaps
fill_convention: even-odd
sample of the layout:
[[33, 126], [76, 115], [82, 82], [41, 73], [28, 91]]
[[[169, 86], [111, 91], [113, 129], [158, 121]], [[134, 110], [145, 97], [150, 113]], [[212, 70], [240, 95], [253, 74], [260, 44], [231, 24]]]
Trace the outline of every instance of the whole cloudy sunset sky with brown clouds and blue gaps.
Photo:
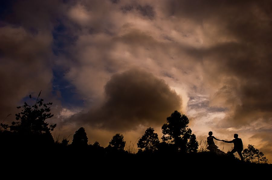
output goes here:
[[[127, 145], [174, 110], [197, 140], [237, 133], [272, 160], [272, 2], [25, 0], [0, 5], [0, 119], [53, 102], [54, 135]], [[70, 136], [69, 136], [70, 135]], [[222, 150], [233, 144], [216, 141]], [[136, 148], [137, 145], [135, 145]]]

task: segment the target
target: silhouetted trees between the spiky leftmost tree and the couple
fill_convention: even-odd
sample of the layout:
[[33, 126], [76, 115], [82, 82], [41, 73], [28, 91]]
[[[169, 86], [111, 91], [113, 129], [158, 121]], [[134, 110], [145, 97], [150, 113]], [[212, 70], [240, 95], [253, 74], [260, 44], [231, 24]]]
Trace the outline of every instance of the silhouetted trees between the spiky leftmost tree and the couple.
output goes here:
[[[149, 127], [146, 129], [144, 135], [137, 143], [138, 153], [155, 153], [155, 152], [180, 152], [180, 153], [196, 153], [198, 143], [196, 136], [192, 134], [191, 129], [187, 128], [189, 119], [178, 111], [174, 111], [166, 119], [167, 123], [162, 126], [163, 142], [159, 141], [158, 134], [154, 129]], [[67, 138], [63, 138], [59, 144], [68, 145]], [[70, 144], [72, 147], [84, 148], [91, 146], [92, 149], [99, 149], [100, 151], [110, 152], [125, 152], [126, 142], [122, 134], [115, 134], [107, 147], [101, 147], [99, 142], [88, 145], [88, 137], [83, 127], [80, 127], [73, 135], [73, 141]], [[132, 147], [131, 147], [132, 148]], [[132, 149], [126, 151], [127, 153], [134, 153]]]

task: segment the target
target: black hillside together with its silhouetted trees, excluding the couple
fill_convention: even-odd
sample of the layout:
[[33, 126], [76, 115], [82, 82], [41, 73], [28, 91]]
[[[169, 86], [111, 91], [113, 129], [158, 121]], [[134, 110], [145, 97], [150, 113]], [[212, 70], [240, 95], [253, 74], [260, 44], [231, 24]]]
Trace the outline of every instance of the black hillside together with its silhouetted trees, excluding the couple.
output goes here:
[[[90, 178], [108, 176], [118, 179], [251, 179], [253, 175], [260, 178], [270, 175], [272, 171], [271, 164], [244, 162], [235, 158], [232, 153], [219, 156], [215, 152], [204, 151], [205, 148], [202, 152], [197, 152], [196, 136], [187, 128], [189, 119], [178, 111], [167, 117], [167, 123], [162, 126], [165, 141], [159, 142], [154, 129], [147, 128], [137, 143], [140, 149], [137, 154], [125, 151], [126, 142], [119, 133], [112, 137], [105, 148], [98, 141], [88, 144], [83, 127], [75, 132], [71, 144], [64, 137], [62, 141], [56, 141], [51, 135], [56, 125], [49, 126], [45, 122], [46, 117], [52, 115], [48, 104], [42, 104], [42, 101], [37, 99], [40, 106], [45, 105], [44, 109], [37, 109], [37, 103], [32, 106], [25, 103], [24, 110], [16, 115], [17, 120], [21, 121], [13, 122], [11, 126], [1, 124], [0, 169], [5, 172], [4, 175], [27, 172], [28, 175], [37, 174], [35, 178], [38, 179], [44, 178], [44, 174], [51, 174], [51, 178], [55, 178], [55, 174], [70, 173], [84, 177], [91, 175]], [[216, 174], [220, 177], [215, 176]]]

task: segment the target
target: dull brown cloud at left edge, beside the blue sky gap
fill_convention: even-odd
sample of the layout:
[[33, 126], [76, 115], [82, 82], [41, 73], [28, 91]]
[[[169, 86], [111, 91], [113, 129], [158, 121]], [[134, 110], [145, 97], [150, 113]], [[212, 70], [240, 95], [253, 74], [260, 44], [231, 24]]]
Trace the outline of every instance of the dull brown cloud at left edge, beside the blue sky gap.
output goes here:
[[40, 89], [50, 92], [52, 70], [46, 61], [50, 48], [50, 37], [46, 34], [34, 36], [23, 28], [5, 26], [0, 28], [0, 39], [0, 114], [3, 118], [15, 113], [20, 100], [31, 92], [37, 93]]

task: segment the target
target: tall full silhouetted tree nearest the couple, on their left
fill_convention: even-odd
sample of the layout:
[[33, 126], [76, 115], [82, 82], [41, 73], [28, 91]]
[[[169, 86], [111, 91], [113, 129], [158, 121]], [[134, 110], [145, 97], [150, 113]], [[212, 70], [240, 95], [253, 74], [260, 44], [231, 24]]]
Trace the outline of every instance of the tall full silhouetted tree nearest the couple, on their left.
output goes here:
[[161, 128], [164, 134], [162, 140], [175, 144], [180, 152], [196, 152], [198, 143], [192, 130], [187, 128], [189, 123], [187, 116], [175, 110], [166, 121]]

